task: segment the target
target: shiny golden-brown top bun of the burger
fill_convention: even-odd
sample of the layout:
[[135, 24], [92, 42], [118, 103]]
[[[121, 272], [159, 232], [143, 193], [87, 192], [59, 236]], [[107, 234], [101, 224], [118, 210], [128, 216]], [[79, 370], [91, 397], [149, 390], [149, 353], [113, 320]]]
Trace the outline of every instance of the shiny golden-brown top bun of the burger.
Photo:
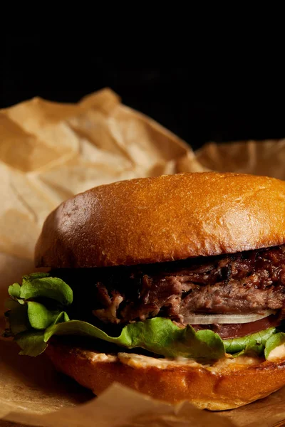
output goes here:
[[285, 182], [197, 172], [95, 187], [43, 225], [36, 267], [133, 265], [285, 242]]

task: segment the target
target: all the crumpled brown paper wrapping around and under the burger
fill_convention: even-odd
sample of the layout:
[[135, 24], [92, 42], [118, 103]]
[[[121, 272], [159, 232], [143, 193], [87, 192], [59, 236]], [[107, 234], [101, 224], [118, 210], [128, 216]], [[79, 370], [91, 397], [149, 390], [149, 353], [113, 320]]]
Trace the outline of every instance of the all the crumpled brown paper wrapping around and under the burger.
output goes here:
[[[44, 218], [61, 201], [121, 179], [218, 170], [283, 178], [285, 140], [207, 144], [196, 154], [109, 89], [78, 104], [34, 98], [0, 110], [0, 302], [33, 268]], [[1, 317], [2, 327], [3, 316]], [[99, 397], [58, 374], [45, 354], [19, 356], [0, 339], [0, 426], [273, 426], [285, 418], [285, 389], [254, 404], [211, 413], [165, 404], [113, 384]]]

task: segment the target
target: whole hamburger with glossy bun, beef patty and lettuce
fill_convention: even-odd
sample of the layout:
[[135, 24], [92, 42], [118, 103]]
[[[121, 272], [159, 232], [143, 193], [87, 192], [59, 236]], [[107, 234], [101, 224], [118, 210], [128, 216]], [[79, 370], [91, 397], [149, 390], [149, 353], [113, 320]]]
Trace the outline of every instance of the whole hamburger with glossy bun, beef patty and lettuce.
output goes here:
[[[117, 382], [221, 411], [285, 385], [285, 182], [130, 179], [46, 218], [6, 335], [98, 395]], [[284, 331], [284, 332], [283, 332]]]

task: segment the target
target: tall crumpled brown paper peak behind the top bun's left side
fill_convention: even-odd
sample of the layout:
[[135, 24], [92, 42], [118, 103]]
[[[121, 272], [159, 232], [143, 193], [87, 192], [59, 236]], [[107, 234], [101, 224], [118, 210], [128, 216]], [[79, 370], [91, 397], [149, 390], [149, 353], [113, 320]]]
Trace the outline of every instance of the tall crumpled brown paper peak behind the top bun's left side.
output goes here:
[[76, 105], [34, 98], [0, 110], [0, 137], [0, 252], [25, 259], [44, 218], [73, 194], [172, 174], [185, 158], [203, 169], [185, 142], [108, 89]]

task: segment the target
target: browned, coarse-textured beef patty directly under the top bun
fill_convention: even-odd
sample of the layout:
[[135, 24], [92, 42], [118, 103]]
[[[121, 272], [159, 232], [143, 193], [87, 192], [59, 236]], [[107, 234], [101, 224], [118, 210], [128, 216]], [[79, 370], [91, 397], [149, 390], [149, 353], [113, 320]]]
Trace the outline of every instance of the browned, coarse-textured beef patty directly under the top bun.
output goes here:
[[155, 316], [185, 325], [191, 313], [249, 313], [285, 306], [285, 245], [135, 267], [59, 269], [51, 274], [73, 288], [75, 303], [81, 301], [77, 315], [92, 312], [100, 322], [113, 325]]

